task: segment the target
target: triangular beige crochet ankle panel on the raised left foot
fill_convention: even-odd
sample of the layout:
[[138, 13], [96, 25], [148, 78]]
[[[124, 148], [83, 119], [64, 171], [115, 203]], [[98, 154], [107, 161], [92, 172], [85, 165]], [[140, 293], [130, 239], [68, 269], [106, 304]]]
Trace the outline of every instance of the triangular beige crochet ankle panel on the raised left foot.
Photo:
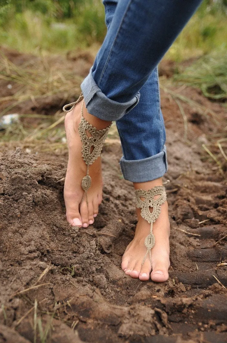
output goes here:
[[[100, 156], [109, 128], [110, 126], [103, 130], [97, 130], [81, 116], [79, 134], [83, 143], [82, 156], [86, 165], [91, 165]], [[91, 137], [88, 137], [86, 131], [90, 133]]]

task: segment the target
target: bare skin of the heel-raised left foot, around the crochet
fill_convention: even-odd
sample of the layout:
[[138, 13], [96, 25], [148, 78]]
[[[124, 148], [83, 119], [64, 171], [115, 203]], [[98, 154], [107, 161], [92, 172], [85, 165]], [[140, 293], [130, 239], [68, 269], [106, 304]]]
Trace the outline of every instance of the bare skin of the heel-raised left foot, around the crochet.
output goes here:
[[[103, 180], [101, 157], [90, 165], [89, 174], [92, 184], [88, 190], [88, 205], [84, 199], [80, 205], [83, 189], [81, 187], [82, 178], [86, 175], [86, 164], [83, 160], [82, 142], [79, 136], [79, 123], [81, 119], [82, 102], [68, 112], [65, 117], [65, 131], [68, 143], [68, 166], [64, 186], [64, 199], [66, 206], [66, 218], [72, 226], [88, 227], [94, 223], [94, 217], [98, 214], [98, 205], [102, 202]], [[110, 122], [98, 119], [88, 113], [83, 107], [84, 118], [96, 129], [101, 130], [110, 125]], [[80, 208], [79, 208], [80, 205]]]

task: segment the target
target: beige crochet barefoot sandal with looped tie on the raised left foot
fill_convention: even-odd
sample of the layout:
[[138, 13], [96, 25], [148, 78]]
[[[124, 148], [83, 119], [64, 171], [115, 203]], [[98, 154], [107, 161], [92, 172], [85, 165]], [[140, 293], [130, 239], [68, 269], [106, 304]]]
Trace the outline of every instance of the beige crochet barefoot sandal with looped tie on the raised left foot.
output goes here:
[[[82, 203], [84, 197], [86, 197], [86, 203], [88, 205], [88, 190], [91, 187], [91, 177], [89, 175], [89, 166], [95, 162], [95, 160], [101, 155], [103, 142], [105, 141], [109, 128], [111, 124], [102, 130], [97, 130], [94, 126], [92, 126], [83, 116], [83, 94], [81, 93], [77, 101], [74, 103], [65, 105], [63, 107], [64, 112], [70, 112], [75, 108], [75, 106], [82, 100], [81, 105], [81, 121], [79, 124], [79, 135], [82, 142], [82, 156], [84, 159], [85, 164], [87, 165], [87, 174], [83, 177], [81, 182], [81, 187], [84, 191], [83, 197], [81, 199], [80, 204]], [[69, 109], [67, 109], [70, 107]], [[87, 134], [89, 133], [89, 136]]]

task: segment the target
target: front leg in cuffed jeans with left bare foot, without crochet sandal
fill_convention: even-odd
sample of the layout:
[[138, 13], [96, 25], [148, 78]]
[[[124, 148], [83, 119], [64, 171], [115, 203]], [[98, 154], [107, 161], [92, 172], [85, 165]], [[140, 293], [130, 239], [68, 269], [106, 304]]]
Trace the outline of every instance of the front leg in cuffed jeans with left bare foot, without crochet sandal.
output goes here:
[[[180, 0], [119, 0], [94, 67], [81, 85], [87, 106], [85, 119], [97, 129], [107, 127], [137, 104], [138, 91], [199, 3], [187, 0], [182, 6]], [[85, 169], [78, 136], [79, 116], [79, 105], [66, 116], [69, 162], [64, 197], [69, 223], [86, 227], [93, 222], [92, 213], [97, 213], [101, 201], [102, 178], [97, 160], [90, 171], [91, 176], [99, 176], [89, 190], [89, 206], [82, 203], [79, 208]]]

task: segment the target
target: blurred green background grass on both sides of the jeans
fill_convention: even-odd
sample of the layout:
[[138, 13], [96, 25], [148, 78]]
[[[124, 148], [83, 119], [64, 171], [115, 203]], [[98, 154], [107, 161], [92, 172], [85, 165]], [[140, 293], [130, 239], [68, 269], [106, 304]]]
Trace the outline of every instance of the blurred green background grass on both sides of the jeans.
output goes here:
[[[106, 34], [101, 0], [4, 2], [0, 7], [0, 45], [21, 52], [65, 53], [101, 44]], [[227, 7], [223, 0], [220, 3], [204, 0], [165, 58], [180, 62], [212, 50], [227, 50]]]

